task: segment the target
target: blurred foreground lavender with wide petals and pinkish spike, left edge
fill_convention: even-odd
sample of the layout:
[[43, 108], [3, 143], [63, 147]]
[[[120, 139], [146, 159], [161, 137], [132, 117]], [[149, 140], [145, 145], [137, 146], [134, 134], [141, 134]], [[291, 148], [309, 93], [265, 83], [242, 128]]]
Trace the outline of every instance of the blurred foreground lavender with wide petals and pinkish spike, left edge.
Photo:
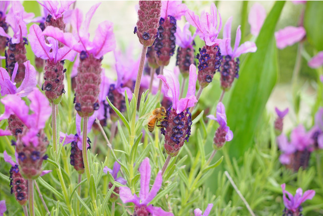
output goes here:
[[0, 120], [10, 118], [10, 115], [15, 114], [25, 126], [17, 135], [18, 163], [21, 167], [21, 174], [25, 178], [35, 179], [41, 174], [43, 160], [47, 159], [45, 152], [49, 142], [43, 128], [51, 114], [51, 107], [37, 88], [34, 88], [27, 98], [31, 101], [32, 114], [29, 114], [28, 106], [17, 95], [7, 95], [1, 99], [5, 110]]

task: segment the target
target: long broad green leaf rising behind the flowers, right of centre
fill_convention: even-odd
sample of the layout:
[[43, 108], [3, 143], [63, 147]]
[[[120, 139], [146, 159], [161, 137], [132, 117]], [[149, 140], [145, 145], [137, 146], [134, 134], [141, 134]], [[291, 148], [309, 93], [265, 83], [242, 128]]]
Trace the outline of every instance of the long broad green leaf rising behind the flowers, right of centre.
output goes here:
[[249, 53], [241, 65], [240, 78], [231, 89], [227, 108], [228, 125], [234, 137], [229, 147], [232, 157], [240, 157], [251, 147], [258, 119], [277, 79], [275, 26], [285, 1], [276, 1], [256, 40], [257, 51]]

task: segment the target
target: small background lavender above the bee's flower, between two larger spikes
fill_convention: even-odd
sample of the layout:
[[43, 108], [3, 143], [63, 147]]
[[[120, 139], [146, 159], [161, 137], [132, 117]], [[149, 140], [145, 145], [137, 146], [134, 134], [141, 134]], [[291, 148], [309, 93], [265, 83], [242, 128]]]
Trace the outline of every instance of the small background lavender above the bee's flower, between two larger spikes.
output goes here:
[[176, 44], [178, 45], [176, 65], [179, 67], [179, 71], [184, 78], [187, 78], [189, 75], [189, 66], [191, 64], [195, 65], [195, 49], [193, 48], [193, 45], [195, 45], [195, 33], [192, 35], [189, 26], [190, 24], [186, 22], [183, 31], [180, 28], [176, 28], [175, 33]]

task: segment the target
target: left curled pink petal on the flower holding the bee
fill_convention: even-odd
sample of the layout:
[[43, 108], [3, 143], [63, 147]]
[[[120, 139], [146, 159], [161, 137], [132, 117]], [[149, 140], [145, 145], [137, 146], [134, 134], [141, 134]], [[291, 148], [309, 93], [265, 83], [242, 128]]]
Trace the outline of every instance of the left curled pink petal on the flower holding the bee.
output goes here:
[[158, 75], [157, 78], [161, 79], [164, 83], [166, 96], [172, 98], [172, 108], [177, 109], [178, 96], [179, 96], [179, 81], [174, 73], [164, 69], [164, 75]]

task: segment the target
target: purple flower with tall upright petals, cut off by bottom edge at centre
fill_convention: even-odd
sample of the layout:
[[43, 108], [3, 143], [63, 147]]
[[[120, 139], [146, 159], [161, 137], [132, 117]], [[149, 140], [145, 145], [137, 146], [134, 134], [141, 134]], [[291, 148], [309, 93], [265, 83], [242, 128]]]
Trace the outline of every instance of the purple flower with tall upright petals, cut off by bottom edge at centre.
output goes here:
[[149, 190], [151, 179], [151, 166], [149, 164], [149, 158], [146, 157], [141, 163], [140, 168], [140, 192], [139, 197], [136, 194], [132, 194], [130, 188], [120, 187], [120, 199], [123, 203], [134, 203], [135, 213], [134, 215], [148, 215], [153, 216], [173, 216], [172, 213], [163, 211], [160, 207], [154, 207], [148, 204], [156, 197], [158, 191], [161, 188], [162, 177], [161, 171], [158, 172], [156, 180], [151, 190]]

